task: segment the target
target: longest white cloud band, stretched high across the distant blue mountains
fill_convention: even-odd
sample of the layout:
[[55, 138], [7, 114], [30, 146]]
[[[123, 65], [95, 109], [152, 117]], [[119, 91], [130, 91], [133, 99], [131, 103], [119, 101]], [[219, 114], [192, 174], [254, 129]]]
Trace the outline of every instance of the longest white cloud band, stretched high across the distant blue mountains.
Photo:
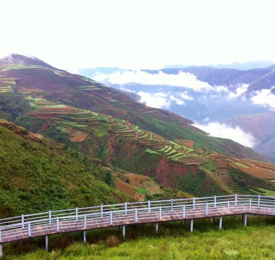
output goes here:
[[[94, 78], [96, 81], [104, 82], [106, 84], [144, 84], [144, 85], [168, 85], [186, 87], [192, 90], [201, 91], [215, 91], [216, 88], [221, 91], [226, 88], [224, 86], [211, 86], [207, 82], [197, 80], [194, 74], [180, 71], [179, 74], [166, 74], [159, 71], [156, 74], [150, 74], [145, 71], [123, 71], [111, 74], [99, 73]], [[183, 92], [184, 93], [184, 92]]]

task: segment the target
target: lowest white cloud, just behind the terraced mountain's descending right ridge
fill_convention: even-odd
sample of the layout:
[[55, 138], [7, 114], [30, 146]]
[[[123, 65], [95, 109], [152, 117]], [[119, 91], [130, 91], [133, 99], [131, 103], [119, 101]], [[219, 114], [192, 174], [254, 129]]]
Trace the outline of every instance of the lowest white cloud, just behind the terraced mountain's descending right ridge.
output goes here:
[[251, 133], [246, 133], [239, 126], [232, 127], [230, 125], [220, 124], [219, 122], [209, 122], [207, 124], [195, 123], [194, 126], [209, 133], [211, 136], [228, 138], [251, 148], [257, 143]]

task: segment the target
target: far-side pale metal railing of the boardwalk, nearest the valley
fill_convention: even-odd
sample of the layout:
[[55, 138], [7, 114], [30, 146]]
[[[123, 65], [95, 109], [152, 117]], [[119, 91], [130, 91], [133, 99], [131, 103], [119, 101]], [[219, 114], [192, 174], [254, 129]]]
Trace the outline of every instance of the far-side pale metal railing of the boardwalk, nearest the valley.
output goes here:
[[[267, 199], [268, 198], [268, 199]], [[261, 200], [262, 199], [262, 200]], [[271, 200], [270, 200], [271, 199]], [[163, 212], [170, 211], [173, 214], [174, 210], [179, 209], [210, 209], [217, 206], [231, 206], [231, 205], [255, 205], [262, 207], [274, 206], [275, 210], [275, 197], [262, 196], [262, 195], [223, 195], [211, 196], [201, 198], [184, 198], [184, 199], [170, 199], [170, 200], [155, 200], [145, 202], [130, 202], [121, 204], [100, 205], [84, 208], [72, 208], [64, 210], [54, 210], [48, 212], [39, 212], [35, 214], [26, 214], [15, 216], [11, 218], [0, 219], [1, 230], [11, 230], [19, 227], [27, 227], [28, 225], [35, 224], [51, 224], [62, 221], [83, 220], [91, 218], [109, 218], [111, 216], [127, 215], [127, 214], [140, 214], [143, 212], [159, 212], [160, 208]], [[65, 212], [65, 213], [63, 213]], [[61, 214], [58, 214], [61, 213]]]

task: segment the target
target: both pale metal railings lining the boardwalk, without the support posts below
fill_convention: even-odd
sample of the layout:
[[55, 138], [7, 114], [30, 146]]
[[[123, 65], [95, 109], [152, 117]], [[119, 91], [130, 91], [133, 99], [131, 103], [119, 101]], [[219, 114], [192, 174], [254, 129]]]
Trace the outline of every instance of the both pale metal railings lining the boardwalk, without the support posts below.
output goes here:
[[[234, 207], [238, 206], [238, 207]], [[266, 211], [270, 215], [270, 208], [274, 208], [275, 215], [275, 197], [260, 195], [227, 195], [213, 196], [203, 198], [171, 199], [156, 200], [146, 202], [122, 203], [113, 205], [101, 205], [87, 208], [73, 208], [66, 210], [54, 210], [36, 214], [27, 214], [11, 218], [0, 219], [0, 243], [1, 233], [5, 232], [5, 238], [28, 235], [32, 237], [41, 225], [47, 226], [47, 231], [56, 233], [60, 232], [66, 222], [68, 228], [82, 227], [84, 230], [89, 229], [89, 225], [94, 223], [107, 224], [107, 226], [116, 226], [121, 223], [119, 217], [130, 223], [137, 223], [138, 220], [146, 222], [148, 219], [162, 221], [164, 217], [180, 216], [192, 218], [197, 214], [207, 217], [209, 214], [219, 213], [239, 214], [237, 211], [240, 207], [247, 210], [246, 213], [252, 212], [252, 207], [258, 207], [259, 214]], [[254, 214], [257, 208], [254, 208]], [[150, 222], [150, 221], [148, 221]], [[91, 228], [91, 227], [90, 227]]]

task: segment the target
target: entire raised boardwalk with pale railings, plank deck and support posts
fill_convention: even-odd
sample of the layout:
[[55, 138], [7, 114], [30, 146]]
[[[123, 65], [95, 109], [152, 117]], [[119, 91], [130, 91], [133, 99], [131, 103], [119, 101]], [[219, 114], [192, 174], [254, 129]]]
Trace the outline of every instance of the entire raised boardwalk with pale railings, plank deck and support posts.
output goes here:
[[222, 217], [242, 214], [257, 214], [275, 216], [275, 197], [254, 195], [228, 195], [192, 199], [160, 200], [148, 202], [133, 202], [115, 205], [101, 205], [88, 208], [75, 208], [22, 215], [0, 219], [0, 259], [3, 257], [2, 244], [35, 237], [46, 237], [48, 250], [48, 235], [83, 231], [86, 242], [87, 230], [125, 225], [156, 223], [165, 221], [190, 220], [190, 231], [193, 230], [193, 220], [199, 218]]

